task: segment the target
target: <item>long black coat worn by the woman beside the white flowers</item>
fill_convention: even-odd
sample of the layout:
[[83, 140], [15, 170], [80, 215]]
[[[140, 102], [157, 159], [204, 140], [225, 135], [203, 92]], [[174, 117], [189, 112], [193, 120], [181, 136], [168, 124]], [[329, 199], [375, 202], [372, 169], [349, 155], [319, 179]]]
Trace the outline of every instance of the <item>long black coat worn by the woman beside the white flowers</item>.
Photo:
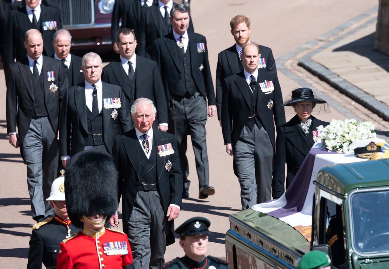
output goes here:
[[[303, 134], [299, 127], [301, 120], [298, 115], [295, 115], [277, 129], [277, 147], [272, 182], [273, 198], [280, 197], [284, 193], [285, 162], [287, 165], [286, 187], [288, 187], [315, 143], [312, 131], [317, 130], [320, 125], [325, 127], [329, 124], [329, 122], [318, 120], [312, 115], [311, 118], [312, 123], [308, 137]], [[274, 193], [276, 193], [276, 196], [274, 196]]]

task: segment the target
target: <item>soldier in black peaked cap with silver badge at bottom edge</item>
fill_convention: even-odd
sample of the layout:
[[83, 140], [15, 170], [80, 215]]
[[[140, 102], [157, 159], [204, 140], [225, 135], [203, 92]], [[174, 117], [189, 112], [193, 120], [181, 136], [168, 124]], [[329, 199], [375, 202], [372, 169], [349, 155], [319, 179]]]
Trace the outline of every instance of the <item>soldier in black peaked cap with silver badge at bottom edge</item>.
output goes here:
[[180, 235], [180, 246], [185, 256], [167, 262], [163, 268], [202, 268], [202, 269], [228, 269], [228, 262], [212, 256], [207, 256], [208, 227], [211, 222], [202, 217], [188, 219], [181, 224], [175, 232]]

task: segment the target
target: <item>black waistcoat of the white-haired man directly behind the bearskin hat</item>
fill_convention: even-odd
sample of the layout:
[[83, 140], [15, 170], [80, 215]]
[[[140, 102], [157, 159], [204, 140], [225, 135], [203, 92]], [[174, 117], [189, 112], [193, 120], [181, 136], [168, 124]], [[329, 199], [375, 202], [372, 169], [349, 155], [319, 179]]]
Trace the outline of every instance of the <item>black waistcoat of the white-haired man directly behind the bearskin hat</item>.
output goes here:
[[104, 145], [103, 135], [102, 135], [103, 134], [103, 109], [104, 108], [101, 109], [100, 113], [93, 114], [88, 107], [86, 108], [86, 119], [88, 122], [88, 139], [86, 140], [86, 146]]

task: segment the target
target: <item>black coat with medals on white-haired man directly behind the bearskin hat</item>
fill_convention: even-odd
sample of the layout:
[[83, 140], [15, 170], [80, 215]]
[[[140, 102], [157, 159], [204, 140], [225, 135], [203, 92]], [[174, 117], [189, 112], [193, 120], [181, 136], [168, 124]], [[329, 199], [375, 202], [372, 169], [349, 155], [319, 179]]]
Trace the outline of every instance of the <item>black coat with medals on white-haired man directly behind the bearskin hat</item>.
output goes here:
[[[102, 82], [102, 87], [102, 98], [120, 98], [121, 102], [121, 107], [116, 109], [118, 112], [116, 119], [111, 115], [113, 108], [104, 108], [104, 105], [102, 108], [103, 141], [109, 153], [112, 153], [115, 136], [132, 128], [132, 118], [122, 89], [105, 82]], [[85, 83], [69, 87], [63, 98], [61, 109], [60, 156], [73, 156], [84, 150], [88, 139], [86, 109], [88, 107], [85, 99]]]

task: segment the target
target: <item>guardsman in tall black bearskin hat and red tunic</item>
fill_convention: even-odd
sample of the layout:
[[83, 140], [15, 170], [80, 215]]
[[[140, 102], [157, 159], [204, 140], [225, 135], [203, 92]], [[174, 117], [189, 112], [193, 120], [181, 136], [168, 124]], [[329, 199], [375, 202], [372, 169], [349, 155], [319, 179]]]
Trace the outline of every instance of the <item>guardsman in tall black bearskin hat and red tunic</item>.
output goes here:
[[133, 268], [127, 236], [104, 227], [118, 207], [112, 156], [75, 154], [66, 168], [65, 189], [69, 217], [82, 231], [60, 243], [57, 269]]

